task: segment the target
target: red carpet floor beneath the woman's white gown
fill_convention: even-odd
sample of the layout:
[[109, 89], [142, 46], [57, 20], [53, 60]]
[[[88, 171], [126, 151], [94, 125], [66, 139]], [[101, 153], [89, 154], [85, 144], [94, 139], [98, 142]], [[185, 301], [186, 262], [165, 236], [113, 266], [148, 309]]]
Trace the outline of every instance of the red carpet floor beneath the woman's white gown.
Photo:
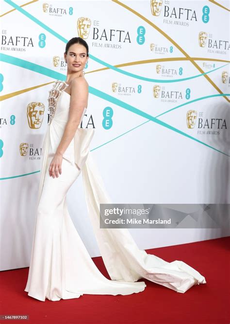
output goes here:
[[[168, 262], [182, 260], [205, 276], [207, 284], [184, 294], [145, 280], [147, 287], [138, 294], [41, 302], [24, 291], [29, 268], [2, 271], [0, 314], [29, 314], [30, 320], [0, 323], [229, 324], [229, 243], [229, 237], [222, 237], [146, 250]], [[109, 278], [102, 259], [93, 260]]]

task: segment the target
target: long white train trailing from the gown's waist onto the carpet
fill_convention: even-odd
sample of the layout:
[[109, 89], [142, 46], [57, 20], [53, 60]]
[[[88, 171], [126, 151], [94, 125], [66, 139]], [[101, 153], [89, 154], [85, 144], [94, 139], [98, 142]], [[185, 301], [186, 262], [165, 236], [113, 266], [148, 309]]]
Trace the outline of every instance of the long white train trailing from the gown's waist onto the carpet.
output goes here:
[[112, 201], [105, 190], [91, 152], [83, 166], [82, 176], [88, 214], [111, 279], [134, 282], [146, 278], [182, 293], [194, 285], [206, 283], [197, 270], [183, 261], [166, 262], [140, 250], [128, 229], [99, 228], [99, 204]]

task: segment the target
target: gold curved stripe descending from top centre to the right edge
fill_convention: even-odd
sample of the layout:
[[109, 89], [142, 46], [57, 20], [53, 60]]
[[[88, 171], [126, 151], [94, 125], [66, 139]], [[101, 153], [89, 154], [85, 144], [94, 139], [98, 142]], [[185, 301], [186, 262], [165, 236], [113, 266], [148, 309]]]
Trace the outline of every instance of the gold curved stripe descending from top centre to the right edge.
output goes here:
[[[131, 11], [134, 15], [136, 15], [137, 17], [141, 18], [142, 20], [146, 21], [150, 26], [155, 28], [160, 34], [162, 34], [172, 44], [174, 44], [179, 49], [179, 51], [181, 51], [181, 53], [184, 54], [184, 56], [186, 56], [188, 58], [188, 60], [197, 68], [197, 70], [199, 72], [204, 73], [204, 71], [198, 66], [198, 64], [196, 62], [194, 62], [192, 60], [192, 58], [182, 49], [182, 47], [178, 43], [176, 43], [175, 40], [173, 40], [170, 36], [168, 36], [166, 33], [164, 33], [163, 30], [161, 30], [159, 27], [157, 27], [157, 25], [155, 25], [153, 22], [151, 22], [146, 17], [142, 16], [141, 14], [139, 14], [137, 11], [135, 11], [131, 7], [127, 6], [126, 4], [124, 4], [118, 0], [112, 0], [112, 1], [119, 4], [120, 6], [124, 7], [125, 9]], [[209, 83], [211, 83], [211, 85], [215, 88], [216, 91], [223, 94], [223, 92], [216, 86], [216, 84], [213, 82], [213, 80], [210, 79], [210, 77], [207, 74], [204, 74], [204, 77], [209, 81]], [[230, 102], [230, 99], [228, 97], [223, 96], [223, 98], [225, 98], [228, 102]]]

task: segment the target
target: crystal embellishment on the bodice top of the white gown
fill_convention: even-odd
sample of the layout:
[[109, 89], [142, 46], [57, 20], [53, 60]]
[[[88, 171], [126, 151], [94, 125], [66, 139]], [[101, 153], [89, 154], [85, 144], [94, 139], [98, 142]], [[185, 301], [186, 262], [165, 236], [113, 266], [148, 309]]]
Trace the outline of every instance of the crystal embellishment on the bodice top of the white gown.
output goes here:
[[56, 80], [53, 84], [53, 88], [51, 90], [49, 90], [49, 98], [48, 98], [49, 125], [51, 124], [51, 121], [55, 114], [57, 100], [60, 97], [62, 91], [66, 90], [67, 87], [68, 87], [68, 84], [65, 81]]

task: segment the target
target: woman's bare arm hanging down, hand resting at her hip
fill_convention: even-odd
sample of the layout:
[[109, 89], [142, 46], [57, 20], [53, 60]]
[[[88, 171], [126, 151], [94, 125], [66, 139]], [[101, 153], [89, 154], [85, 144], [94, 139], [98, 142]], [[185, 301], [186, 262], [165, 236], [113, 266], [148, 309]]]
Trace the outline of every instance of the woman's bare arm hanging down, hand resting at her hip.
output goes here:
[[84, 108], [87, 107], [88, 83], [83, 77], [76, 77], [71, 84], [71, 97], [69, 107], [69, 117], [66, 123], [62, 140], [58, 145], [56, 153], [49, 165], [49, 176], [58, 178], [62, 173], [62, 159], [68, 145], [72, 141], [74, 134], [80, 124]]

